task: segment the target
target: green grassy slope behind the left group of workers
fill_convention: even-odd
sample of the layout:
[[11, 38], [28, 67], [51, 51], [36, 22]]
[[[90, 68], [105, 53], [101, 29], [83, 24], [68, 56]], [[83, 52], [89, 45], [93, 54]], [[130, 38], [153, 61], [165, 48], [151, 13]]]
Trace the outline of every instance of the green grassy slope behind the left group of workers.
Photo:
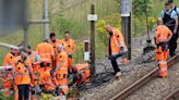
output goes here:
[[[29, 0], [29, 20], [43, 18], [43, 1], [44, 0]], [[119, 11], [115, 0], [49, 0], [49, 30], [55, 32], [58, 38], [63, 38], [63, 32], [69, 29], [71, 32], [71, 37], [77, 41], [76, 43], [82, 43], [84, 39], [90, 39], [90, 22], [87, 22], [87, 14], [90, 13], [92, 3], [96, 7], [98, 20]], [[0, 37], [0, 42], [19, 45], [23, 40], [23, 30], [14, 33], [15, 34]], [[43, 25], [29, 25], [28, 36], [28, 43], [35, 49], [36, 45], [43, 41]], [[82, 51], [83, 49], [81, 49], [77, 54], [82, 53]], [[0, 49], [0, 65], [8, 52], [9, 49], [7, 48]], [[97, 50], [96, 53], [100, 51]], [[81, 54], [81, 58], [77, 54], [75, 57], [80, 60], [75, 60], [75, 62], [83, 60], [83, 54]]]

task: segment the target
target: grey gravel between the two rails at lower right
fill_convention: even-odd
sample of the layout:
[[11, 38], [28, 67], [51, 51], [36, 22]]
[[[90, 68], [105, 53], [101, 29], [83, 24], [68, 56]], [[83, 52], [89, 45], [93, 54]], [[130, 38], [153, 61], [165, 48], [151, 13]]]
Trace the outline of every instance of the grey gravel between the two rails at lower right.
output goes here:
[[[163, 100], [179, 87], [179, 63], [168, 70], [167, 78], [155, 78], [126, 100]], [[179, 99], [178, 99], [179, 100]]]

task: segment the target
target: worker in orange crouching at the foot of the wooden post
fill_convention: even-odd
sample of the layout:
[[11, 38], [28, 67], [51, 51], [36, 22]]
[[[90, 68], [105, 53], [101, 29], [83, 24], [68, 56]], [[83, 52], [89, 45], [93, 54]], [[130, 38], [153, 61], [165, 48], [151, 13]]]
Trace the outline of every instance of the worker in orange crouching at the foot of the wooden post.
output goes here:
[[90, 83], [91, 71], [88, 63], [72, 65], [72, 72], [75, 74], [74, 83], [77, 87], [86, 86]]

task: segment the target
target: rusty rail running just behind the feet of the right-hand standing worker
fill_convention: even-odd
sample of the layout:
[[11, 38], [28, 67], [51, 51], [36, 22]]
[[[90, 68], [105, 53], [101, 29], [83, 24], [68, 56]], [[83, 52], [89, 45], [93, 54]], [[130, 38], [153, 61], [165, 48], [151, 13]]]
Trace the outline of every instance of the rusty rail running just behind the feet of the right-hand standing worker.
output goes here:
[[[167, 61], [168, 62], [168, 67], [171, 67], [172, 65], [178, 63], [178, 61], [179, 61], [179, 54], [177, 54], [174, 58], [169, 59]], [[143, 85], [151, 82], [157, 75], [158, 75], [158, 67], [154, 68], [153, 71], [147, 73], [145, 76], [138, 79], [135, 83], [133, 83], [132, 85], [130, 85], [129, 87], [127, 87], [126, 89], [123, 89], [122, 91], [120, 91], [119, 93], [114, 96], [112, 98], [110, 98], [110, 100], [122, 100], [122, 99], [127, 98], [129, 95], [131, 95], [132, 92], [134, 92], [135, 90], [141, 88]]]

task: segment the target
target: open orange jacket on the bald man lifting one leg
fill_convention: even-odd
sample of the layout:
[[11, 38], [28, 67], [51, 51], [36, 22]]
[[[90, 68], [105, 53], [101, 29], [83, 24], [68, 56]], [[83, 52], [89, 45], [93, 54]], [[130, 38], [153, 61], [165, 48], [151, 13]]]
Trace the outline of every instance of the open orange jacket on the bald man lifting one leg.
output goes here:
[[[112, 29], [112, 36], [110, 37], [111, 54], [118, 54], [120, 52], [120, 46], [126, 47], [123, 35], [119, 29]], [[109, 45], [107, 47], [109, 53]]]

